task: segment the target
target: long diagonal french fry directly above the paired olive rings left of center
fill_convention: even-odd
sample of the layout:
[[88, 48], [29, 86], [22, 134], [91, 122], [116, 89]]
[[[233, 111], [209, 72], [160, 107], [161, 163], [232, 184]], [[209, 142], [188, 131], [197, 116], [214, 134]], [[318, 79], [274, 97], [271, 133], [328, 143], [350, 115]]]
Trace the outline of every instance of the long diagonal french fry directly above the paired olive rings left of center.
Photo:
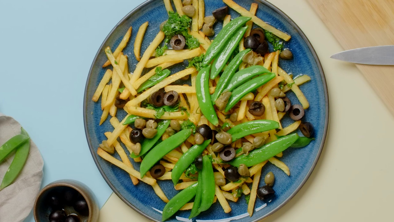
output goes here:
[[128, 107], [136, 106], [138, 103], [144, 101], [149, 96], [151, 96], [151, 94], [153, 92], [156, 92], [157, 90], [165, 87], [166, 85], [169, 85], [169, 84], [177, 81], [178, 79], [180, 79], [180, 78], [182, 78], [182, 77], [184, 77], [186, 75], [190, 75], [191, 73], [193, 73], [195, 71], [196, 71], [196, 69], [194, 67], [190, 67], [190, 68], [187, 68], [187, 69], [182, 70], [180, 72], [177, 72], [177, 73], [175, 73], [173, 75], [170, 75], [169, 77], [165, 78], [160, 83], [154, 85], [153, 87], [151, 87], [148, 90], [146, 90], [145, 92], [141, 93], [139, 96], [137, 96], [133, 100], [131, 100], [128, 103], [126, 103], [126, 106], [128, 106]]

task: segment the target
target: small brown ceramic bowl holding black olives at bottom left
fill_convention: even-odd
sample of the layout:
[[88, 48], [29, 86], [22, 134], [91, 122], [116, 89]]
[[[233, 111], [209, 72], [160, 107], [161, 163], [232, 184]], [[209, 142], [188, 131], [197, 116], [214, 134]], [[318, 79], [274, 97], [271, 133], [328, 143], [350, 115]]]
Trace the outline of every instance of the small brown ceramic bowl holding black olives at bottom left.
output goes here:
[[80, 216], [81, 222], [97, 222], [99, 219], [99, 206], [97, 205], [97, 200], [92, 190], [82, 182], [70, 179], [51, 182], [41, 190], [34, 203], [34, 220], [36, 222], [48, 222], [48, 216], [52, 211], [52, 208], [48, 203], [49, 195], [52, 192], [62, 194], [69, 188], [76, 190], [80, 196], [86, 200], [87, 206], [89, 207], [89, 213], [86, 215], [80, 215], [72, 206], [65, 206], [64, 209], [66, 214], [77, 214]]

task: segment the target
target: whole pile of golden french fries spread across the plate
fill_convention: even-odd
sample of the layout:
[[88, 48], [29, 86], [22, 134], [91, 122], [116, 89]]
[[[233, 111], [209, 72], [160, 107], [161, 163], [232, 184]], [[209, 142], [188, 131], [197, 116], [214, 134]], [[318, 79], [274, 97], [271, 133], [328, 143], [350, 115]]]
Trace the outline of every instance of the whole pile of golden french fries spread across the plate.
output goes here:
[[[269, 24], [265, 23], [264, 21], [262, 21], [261, 19], [255, 16], [258, 8], [258, 4], [252, 3], [250, 10], [247, 10], [245, 8], [242, 8], [232, 0], [223, 0], [223, 2], [225, 2], [225, 4], [227, 4], [230, 8], [234, 9], [241, 15], [252, 17], [251, 21], [247, 23], [249, 28], [244, 37], [249, 36], [252, 25], [254, 23], [266, 30], [271, 31], [273, 34], [279, 36], [284, 40], [290, 39], [290, 36], [288, 36], [288, 34], [277, 30], [276, 28], [270, 26]], [[175, 5], [178, 14], [183, 15], [181, 10], [182, 8], [181, 0], [173, 0], [173, 3]], [[164, 0], [164, 4], [165, 4], [165, 9], [167, 9], [167, 11], [173, 11], [170, 0]], [[108, 61], [102, 67], [106, 68], [112, 65], [112, 70], [110, 68], [107, 68], [92, 98], [94, 102], [98, 102], [101, 96], [102, 116], [100, 119], [100, 125], [106, 119], [108, 119], [108, 115], [110, 115], [111, 116], [110, 123], [114, 128], [113, 132], [105, 133], [108, 139], [105, 141], [105, 143], [103, 141], [103, 146], [100, 145], [101, 148], [98, 148], [97, 153], [99, 154], [99, 156], [101, 156], [103, 159], [111, 162], [115, 166], [118, 166], [121, 169], [125, 170], [127, 173], [129, 173], [130, 179], [134, 185], [137, 185], [139, 181], [143, 181], [151, 185], [157, 196], [160, 197], [166, 203], [169, 200], [165, 196], [160, 186], [158, 185], [157, 180], [171, 180], [171, 170], [174, 168], [180, 156], [182, 156], [182, 154], [188, 151], [188, 149], [190, 149], [191, 146], [195, 145], [194, 137], [190, 136], [184, 143], [182, 143], [180, 147], [169, 152], [163, 158], [163, 160], [160, 161], [160, 164], [162, 164], [166, 169], [166, 173], [162, 177], [158, 179], [154, 179], [151, 177], [151, 175], [148, 172], [147, 176], [141, 178], [140, 173], [136, 171], [133, 167], [133, 164], [136, 164], [137, 162], [141, 162], [141, 158], [135, 158], [133, 160], [130, 160], [128, 154], [126, 154], [125, 150], [123, 149], [123, 147], [126, 147], [128, 152], [132, 153], [131, 148], [132, 146], [134, 146], [134, 144], [132, 144], [132, 142], [129, 139], [129, 134], [132, 129], [130, 128], [130, 126], [123, 125], [123, 122], [125, 122], [126, 118], [129, 115], [138, 115], [141, 117], [155, 119], [156, 111], [141, 107], [141, 102], [149, 98], [149, 96], [151, 96], [152, 93], [164, 88], [165, 91], [175, 90], [179, 93], [180, 106], [184, 107], [186, 111], [165, 112], [160, 119], [177, 119], [180, 121], [189, 119], [196, 126], [201, 124], [207, 124], [212, 129], [216, 129], [216, 126], [212, 125], [203, 115], [201, 115], [201, 112], [199, 111], [199, 105], [197, 102], [197, 95], [195, 90], [197, 70], [194, 67], [185, 68], [182, 71], [174, 73], [169, 77], [167, 77], [166, 79], [164, 79], [163, 81], [161, 81], [160, 83], [158, 83], [157, 85], [154, 85], [153, 87], [145, 90], [140, 94], [137, 94], [136, 92], [136, 89], [142, 83], [147, 81], [147, 79], [149, 79], [155, 74], [156, 67], [162, 67], [163, 69], [169, 68], [175, 64], [179, 64], [180, 62], [183, 62], [186, 59], [204, 54], [208, 49], [208, 47], [210, 46], [212, 41], [207, 36], [205, 36], [203, 32], [200, 31], [204, 24], [204, 15], [205, 15], [204, 0], [193, 0], [192, 5], [195, 6], [196, 13], [195, 16], [192, 17], [190, 34], [193, 37], [197, 38], [197, 40], [201, 44], [199, 48], [192, 50], [184, 49], [179, 51], [167, 49], [164, 52], [164, 55], [156, 58], [154, 57], [151, 58], [152, 56], [155, 55], [155, 49], [162, 43], [162, 41], [165, 38], [164, 32], [159, 31], [156, 37], [154, 38], [154, 40], [152, 41], [152, 43], [149, 45], [149, 47], [145, 50], [145, 52], [143, 52], [143, 55], [141, 57], [140, 56], [141, 43], [143, 42], [145, 32], [149, 25], [149, 22], [147, 21], [139, 27], [138, 34], [136, 35], [136, 39], [134, 40], [134, 55], [136, 57], [136, 60], [138, 61], [138, 64], [134, 69], [134, 73], [130, 73], [128, 68], [128, 61], [127, 61], [128, 57], [126, 56], [126, 52], [123, 52], [123, 49], [125, 48], [126, 44], [130, 40], [130, 36], [132, 32], [132, 27], [130, 27], [126, 32], [123, 40], [121, 40], [121, 43], [115, 49], [115, 51], [112, 52], [110, 47], [107, 47], [105, 49], [105, 53], [108, 58]], [[223, 22], [223, 26], [229, 23], [230, 20], [231, 20], [230, 15], [227, 15]], [[243, 40], [241, 41], [239, 47], [240, 47], [240, 51], [245, 49], [243, 47]], [[298, 86], [302, 85], [303, 83], [306, 83], [307, 81], [310, 81], [310, 77], [307, 75], [302, 75], [300, 77], [297, 77], [296, 79], [293, 79], [291, 75], [289, 75], [279, 67], [278, 64], [279, 53], [280, 53], [279, 51], [276, 51], [264, 55], [264, 60], [260, 63], [260, 65], [264, 66], [265, 68], [272, 71], [273, 73], [276, 73], [276, 77], [271, 81], [269, 81], [267, 84], [258, 88], [258, 93], [256, 94], [256, 96], [253, 93], [249, 93], [240, 101], [240, 103], [232, 111], [238, 113], [238, 119], [236, 122], [231, 122], [229, 119], [226, 118], [226, 116], [229, 115], [230, 113], [225, 113], [217, 110], [216, 112], [217, 112], [217, 116], [219, 117], [220, 125], [227, 123], [229, 124], [230, 127], [234, 127], [237, 124], [255, 120], [255, 119], [275, 120], [281, 123], [281, 119], [284, 117], [285, 113], [281, 113], [276, 110], [275, 99], [269, 94], [269, 92], [272, 88], [277, 87], [278, 84], [281, 83], [282, 81], [285, 81], [285, 83], [288, 85], [289, 84], [292, 85], [291, 87], [285, 85], [282, 89], [282, 92], [288, 92], [292, 90], [296, 94], [299, 102], [303, 105], [304, 109], [307, 109], [309, 107], [309, 102], [307, 98], [305, 98], [304, 94], [301, 92]], [[241, 64], [240, 69], [244, 67], [245, 64]], [[145, 68], [151, 68], [151, 70], [148, 71], [145, 75], [141, 76], [141, 73]], [[171, 85], [178, 79], [187, 77], [189, 75], [191, 76], [191, 86]], [[209, 86], [210, 86], [211, 94], [214, 93], [219, 78], [220, 77], [218, 76], [214, 80], [210, 79]], [[111, 83], [109, 83], [110, 80]], [[123, 92], [120, 92], [119, 89], [123, 87], [124, 87]], [[128, 115], [126, 115], [126, 117], [121, 121], [119, 121], [116, 117], [117, 107], [115, 107], [115, 98], [117, 96], [119, 96], [119, 98], [121, 99], [130, 99], [130, 102], [128, 102], [124, 108], [124, 110], [127, 112]], [[251, 113], [249, 113], [247, 107], [249, 107], [250, 103], [253, 101], [260, 101], [265, 105], [266, 112], [263, 116], [255, 117], [251, 115]], [[275, 130], [271, 130], [270, 132], [263, 132], [254, 135], [249, 135], [246, 136], [245, 138], [234, 141], [231, 144], [231, 146], [234, 148], [240, 148], [242, 147], [243, 142], [246, 141], [253, 142], [253, 139], [256, 136], [264, 137], [268, 143], [269, 141], [274, 141], [276, 139], [275, 134], [281, 136], [290, 134], [291, 132], [293, 132], [298, 128], [300, 123], [301, 121], [296, 121], [286, 127], [282, 127], [281, 125], [280, 126], [281, 130], [279, 132], [276, 132]], [[164, 133], [162, 135], [162, 140], [165, 140], [168, 137], [169, 135], [167, 133]], [[118, 138], [120, 139], [121, 143], [119, 143], [119, 141], [117, 140]], [[220, 159], [215, 155], [214, 152], [212, 152], [211, 148], [212, 146], [208, 145], [208, 148], [204, 151], [204, 153], [211, 154], [213, 159], [216, 160], [213, 163], [214, 169], [217, 170], [214, 173], [214, 175], [215, 177], [224, 176], [223, 169], [225, 169], [229, 165], [221, 164]], [[110, 155], [114, 151], [116, 151], [119, 154], [121, 160], [118, 160], [117, 158], [114, 158], [112, 155]], [[282, 153], [277, 155], [277, 157], [281, 157], [281, 156]], [[251, 167], [249, 169], [251, 173], [251, 177], [247, 179], [241, 178], [241, 181], [229, 182], [221, 187], [216, 185], [215, 201], [216, 200], [219, 201], [225, 213], [229, 213], [231, 211], [231, 207], [228, 203], [228, 200], [234, 202], [238, 201], [238, 197], [236, 196], [237, 193], [236, 190], [238, 188], [242, 188], [243, 194], [250, 195], [247, 211], [250, 214], [250, 216], [252, 216], [253, 209], [255, 207], [256, 192], [260, 182], [262, 167], [264, 167], [264, 165], [267, 162], [270, 162], [271, 164], [279, 167], [280, 169], [283, 170], [284, 173], [286, 173], [286, 175], [290, 176], [290, 169], [286, 166], [286, 164], [281, 162], [279, 159], [273, 157], [270, 158], [268, 161], [262, 162], [260, 164]], [[176, 190], [185, 189], [191, 184], [196, 182], [196, 179], [187, 178], [184, 174], [180, 179], [182, 180], [182, 182], [180, 182], [175, 186]], [[248, 184], [251, 184], [251, 188]], [[186, 205], [184, 205], [184, 207], [182, 207], [181, 210], [191, 209], [192, 205], [193, 203], [187, 203]]]

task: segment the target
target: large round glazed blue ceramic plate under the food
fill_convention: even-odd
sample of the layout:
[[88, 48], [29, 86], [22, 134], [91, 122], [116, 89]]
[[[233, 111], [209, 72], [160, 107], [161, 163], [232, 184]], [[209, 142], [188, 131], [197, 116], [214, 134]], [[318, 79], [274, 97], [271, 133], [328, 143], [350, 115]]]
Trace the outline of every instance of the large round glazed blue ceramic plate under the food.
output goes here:
[[[222, 1], [218, 0], [205, 0], [205, 2], [206, 15], [210, 14], [214, 9], [225, 6]], [[229, 221], [232, 220], [232, 217], [237, 216], [238, 218], [241, 217], [240, 219], [235, 220], [238, 222], [258, 221], [277, 211], [299, 191], [312, 173], [312, 170], [316, 166], [318, 158], [322, 152], [328, 127], [329, 104], [326, 81], [316, 52], [305, 34], [303, 34], [300, 28], [287, 15], [269, 2], [257, 0], [237, 0], [236, 2], [247, 9], [250, 8], [252, 2], [257, 2], [257, 17], [262, 18], [264, 21], [292, 36], [291, 40], [285, 43], [285, 47], [291, 49], [294, 59], [288, 61], [280, 60], [280, 66], [288, 73], [293, 73], [294, 76], [306, 74], [312, 79], [312, 81], [302, 85], [300, 88], [310, 102], [310, 108], [307, 109], [303, 120], [312, 122], [314, 125], [316, 140], [312, 141], [310, 145], [302, 149], [288, 149], [283, 152], [283, 157], [280, 158], [280, 160], [286, 163], [290, 168], [290, 177], [285, 175], [281, 169], [273, 166], [272, 164], [268, 163], [263, 167], [262, 178], [264, 178], [264, 175], [269, 171], [272, 171], [275, 174], [276, 179], [275, 186], [273, 188], [276, 193], [275, 197], [269, 201], [261, 201], [260, 199], [257, 199], [255, 212], [252, 217], [249, 217], [247, 214], [247, 204], [245, 196], [243, 195], [236, 203], [229, 201], [232, 211], [228, 214], [223, 212], [223, 209], [218, 202], [214, 203], [208, 211], [195, 218], [197, 221], [201, 222], [205, 220], [225, 218], [229, 219], [220, 221]], [[175, 9], [174, 6], [173, 8]], [[239, 16], [239, 14], [233, 10], [230, 10], [230, 14], [232, 18]], [[126, 15], [126, 17], [122, 19], [115, 28], [113, 28], [111, 33], [100, 46], [89, 71], [84, 98], [86, 137], [93, 159], [95, 160], [99, 171], [112, 190], [123, 201], [125, 201], [126, 204], [153, 221], [161, 221], [162, 215], [159, 211], [163, 210], [165, 203], [154, 194], [151, 186], [143, 182], [140, 182], [137, 186], [133, 186], [130, 181], [130, 177], [125, 171], [113, 166], [97, 155], [97, 147], [99, 147], [102, 140], [106, 139], [104, 132], [112, 131], [113, 127], [109, 122], [110, 118], [108, 118], [102, 126], [99, 126], [100, 116], [102, 113], [100, 109], [100, 101], [95, 103], [91, 98], [105, 72], [105, 69], [101, 68], [102, 64], [107, 60], [104, 54], [104, 48], [106, 46], [110, 46], [114, 49], [130, 26], [134, 29], [131, 38], [131, 40], [134, 40], [136, 38], [136, 30], [138, 30], [138, 27], [145, 21], [149, 21], [149, 27], [145, 34], [141, 49], [141, 52], [143, 52], [156, 36], [160, 23], [167, 20], [167, 18], [168, 15], [165, 11], [162, 0], [147, 1]], [[221, 29], [222, 24], [223, 23], [221, 22], [216, 23], [216, 33]], [[130, 67], [131, 72], [134, 71], [137, 63], [133, 53], [133, 45], [134, 44], [132, 43], [128, 43], [127, 47], [124, 49], [124, 53], [128, 55], [129, 58], [128, 66]], [[187, 64], [187, 62], [185, 62], [185, 64]], [[175, 66], [171, 68], [171, 73], [175, 73], [182, 68], [184, 68], [184, 65]], [[287, 95], [293, 103], [299, 103], [292, 92], [289, 92]], [[118, 111], [117, 117], [121, 120], [125, 115], [126, 113], [123, 110], [120, 110]], [[292, 122], [294, 121], [286, 115], [282, 124], [283, 126], [287, 126]], [[300, 132], [298, 133], [301, 135]], [[115, 157], [120, 160], [120, 157], [117, 154], [115, 154]], [[133, 165], [137, 170], [139, 170], [139, 163], [133, 163]], [[171, 181], [158, 181], [158, 183], [169, 199], [178, 193], [173, 188]], [[260, 182], [260, 184], [263, 184], [263, 181]], [[182, 220], [182, 218], [188, 218], [189, 214], [190, 211], [181, 211], [176, 214], [177, 218], [173, 216], [168, 221], [173, 222], [177, 221], [177, 219]], [[195, 219], [193, 219], [193, 221], [195, 221]]]

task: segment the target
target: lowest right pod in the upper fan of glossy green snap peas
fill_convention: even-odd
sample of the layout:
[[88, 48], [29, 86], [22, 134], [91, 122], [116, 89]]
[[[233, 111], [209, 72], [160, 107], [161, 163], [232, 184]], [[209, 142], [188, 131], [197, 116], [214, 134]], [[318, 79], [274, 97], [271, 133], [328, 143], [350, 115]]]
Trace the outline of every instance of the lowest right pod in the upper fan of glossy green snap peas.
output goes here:
[[266, 84], [269, 80], [273, 79], [274, 77], [275, 77], [275, 73], [258, 76], [254, 79], [247, 81], [246, 83], [239, 86], [238, 88], [234, 89], [230, 96], [229, 102], [226, 105], [225, 112], [230, 111], [230, 109], [238, 101], [240, 101], [243, 98], [243, 96], [245, 96], [249, 92], [256, 90], [258, 87], [261, 87], [262, 85]]

